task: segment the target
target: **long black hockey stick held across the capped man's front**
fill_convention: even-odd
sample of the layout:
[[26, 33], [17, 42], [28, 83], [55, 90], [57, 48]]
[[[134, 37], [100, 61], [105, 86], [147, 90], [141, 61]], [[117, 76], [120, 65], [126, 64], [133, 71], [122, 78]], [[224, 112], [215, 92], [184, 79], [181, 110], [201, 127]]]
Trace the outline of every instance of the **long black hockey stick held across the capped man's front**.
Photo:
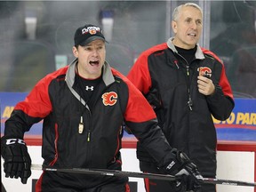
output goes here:
[[[83, 173], [83, 174], [96, 174], [105, 176], [119, 176], [119, 177], [132, 177], [132, 178], [148, 178], [152, 180], [177, 180], [173, 175], [166, 174], [155, 174], [155, 173], [145, 173], [145, 172], [124, 172], [117, 170], [101, 170], [101, 169], [83, 169], [83, 168], [72, 168], [72, 169], [59, 169], [52, 167], [44, 167], [41, 164], [32, 164], [32, 170], [40, 170], [47, 172], [68, 172], [68, 173]], [[240, 180], [220, 180], [214, 178], [203, 178], [204, 183], [209, 184], [220, 184], [220, 185], [230, 185], [230, 186], [246, 186], [255, 187], [255, 182], [246, 182]]]

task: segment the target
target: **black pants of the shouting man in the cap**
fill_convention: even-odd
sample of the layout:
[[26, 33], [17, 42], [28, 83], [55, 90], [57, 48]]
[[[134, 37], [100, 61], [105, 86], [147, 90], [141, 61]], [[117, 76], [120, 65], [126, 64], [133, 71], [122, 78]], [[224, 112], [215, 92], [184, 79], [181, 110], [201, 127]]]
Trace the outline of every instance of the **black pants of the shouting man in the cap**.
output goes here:
[[44, 172], [36, 192], [130, 192], [128, 178]]

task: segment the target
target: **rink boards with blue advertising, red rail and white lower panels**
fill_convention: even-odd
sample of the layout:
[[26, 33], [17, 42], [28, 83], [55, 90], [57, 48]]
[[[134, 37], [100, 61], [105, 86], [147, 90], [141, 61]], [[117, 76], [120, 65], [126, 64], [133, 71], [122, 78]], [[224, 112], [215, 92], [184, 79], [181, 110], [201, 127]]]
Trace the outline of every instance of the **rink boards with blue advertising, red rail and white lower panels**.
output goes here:
[[[10, 117], [15, 104], [24, 100], [24, 92], [0, 92], [1, 107], [1, 135], [4, 132], [4, 122]], [[220, 122], [214, 119], [218, 136], [218, 169], [217, 178], [227, 180], [256, 180], [256, 100], [236, 99], [236, 107], [227, 121]], [[42, 164], [41, 158], [42, 122], [32, 126], [25, 134], [29, 154], [33, 164]], [[136, 159], [136, 140], [132, 135], [124, 132], [123, 138], [123, 170], [140, 172], [139, 162]], [[33, 171], [28, 184], [21, 184], [20, 180], [4, 178], [3, 161], [1, 161], [1, 175], [3, 192], [17, 191], [34, 192], [36, 180], [41, 172]], [[132, 192], [144, 192], [143, 180], [130, 178]], [[2, 186], [2, 187], [3, 187]], [[217, 186], [218, 192], [256, 192], [251, 187]]]

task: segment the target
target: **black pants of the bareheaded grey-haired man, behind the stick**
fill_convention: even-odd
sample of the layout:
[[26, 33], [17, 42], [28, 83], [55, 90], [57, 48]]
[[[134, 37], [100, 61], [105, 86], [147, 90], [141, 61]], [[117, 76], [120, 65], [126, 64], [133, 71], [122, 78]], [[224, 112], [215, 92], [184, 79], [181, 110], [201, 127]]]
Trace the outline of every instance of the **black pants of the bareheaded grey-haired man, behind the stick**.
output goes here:
[[[141, 172], [151, 172], [161, 174], [155, 164], [147, 164], [140, 162], [140, 171]], [[165, 181], [165, 180], [144, 180], [145, 189], [147, 192], [176, 192], [175, 186], [176, 182], [174, 181]], [[185, 192], [185, 191], [179, 191]], [[203, 184], [202, 187], [196, 192], [216, 192], [216, 186], [212, 184]]]

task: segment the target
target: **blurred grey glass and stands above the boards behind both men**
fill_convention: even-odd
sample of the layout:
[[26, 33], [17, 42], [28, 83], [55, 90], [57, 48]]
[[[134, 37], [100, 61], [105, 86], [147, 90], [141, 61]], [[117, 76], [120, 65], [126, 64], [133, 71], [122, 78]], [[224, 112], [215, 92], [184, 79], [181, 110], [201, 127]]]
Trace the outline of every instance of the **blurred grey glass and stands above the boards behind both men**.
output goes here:
[[[236, 98], [256, 98], [256, 2], [190, 1], [204, 10], [200, 45], [226, 67]], [[185, 1], [1, 1], [0, 92], [29, 92], [74, 60], [85, 23], [103, 28], [107, 60], [127, 75], [140, 52], [172, 36], [172, 11]]]

